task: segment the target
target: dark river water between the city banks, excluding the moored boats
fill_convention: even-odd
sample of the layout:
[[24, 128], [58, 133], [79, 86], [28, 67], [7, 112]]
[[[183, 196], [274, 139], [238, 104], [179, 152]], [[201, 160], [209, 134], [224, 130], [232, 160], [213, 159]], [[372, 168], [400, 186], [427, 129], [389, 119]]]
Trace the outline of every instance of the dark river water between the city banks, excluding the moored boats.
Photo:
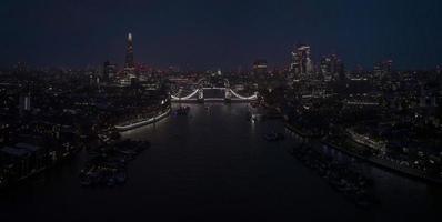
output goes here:
[[[208, 109], [205, 107], [209, 107]], [[62, 167], [0, 194], [1, 221], [410, 221], [438, 219], [442, 189], [365, 163], [380, 204], [356, 208], [290, 154], [281, 121], [247, 121], [247, 104], [190, 104], [190, 113], [123, 133], [152, 145], [129, 181], [84, 189], [82, 151]], [[285, 132], [281, 142], [263, 134]], [[336, 159], [345, 158], [329, 150]], [[438, 218], [436, 218], [438, 216]]]

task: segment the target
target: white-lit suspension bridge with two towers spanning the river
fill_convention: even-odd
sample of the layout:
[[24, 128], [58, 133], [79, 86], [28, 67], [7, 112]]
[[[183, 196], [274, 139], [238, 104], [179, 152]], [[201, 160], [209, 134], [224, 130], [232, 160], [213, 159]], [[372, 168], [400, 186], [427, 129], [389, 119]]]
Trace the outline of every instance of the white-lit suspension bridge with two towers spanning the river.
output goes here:
[[180, 89], [177, 94], [172, 94], [172, 102], [251, 102], [258, 99], [258, 92], [252, 95], [241, 95], [229, 87], [229, 81], [224, 80], [223, 87], [208, 85], [207, 81], [200, 80], [189, 94], [182, 95]]

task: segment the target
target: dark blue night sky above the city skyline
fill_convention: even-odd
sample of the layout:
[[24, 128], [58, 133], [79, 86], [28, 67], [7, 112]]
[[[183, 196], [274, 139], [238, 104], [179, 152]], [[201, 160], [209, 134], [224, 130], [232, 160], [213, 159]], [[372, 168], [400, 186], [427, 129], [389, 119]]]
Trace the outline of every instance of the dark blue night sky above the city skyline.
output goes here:
[[1, 0], [0, 65], [122, 64], [192, 69], [289, 62], [298, 43], [348, 67], [392, 58], [399, 69], [442, 63], [440, 0]]

